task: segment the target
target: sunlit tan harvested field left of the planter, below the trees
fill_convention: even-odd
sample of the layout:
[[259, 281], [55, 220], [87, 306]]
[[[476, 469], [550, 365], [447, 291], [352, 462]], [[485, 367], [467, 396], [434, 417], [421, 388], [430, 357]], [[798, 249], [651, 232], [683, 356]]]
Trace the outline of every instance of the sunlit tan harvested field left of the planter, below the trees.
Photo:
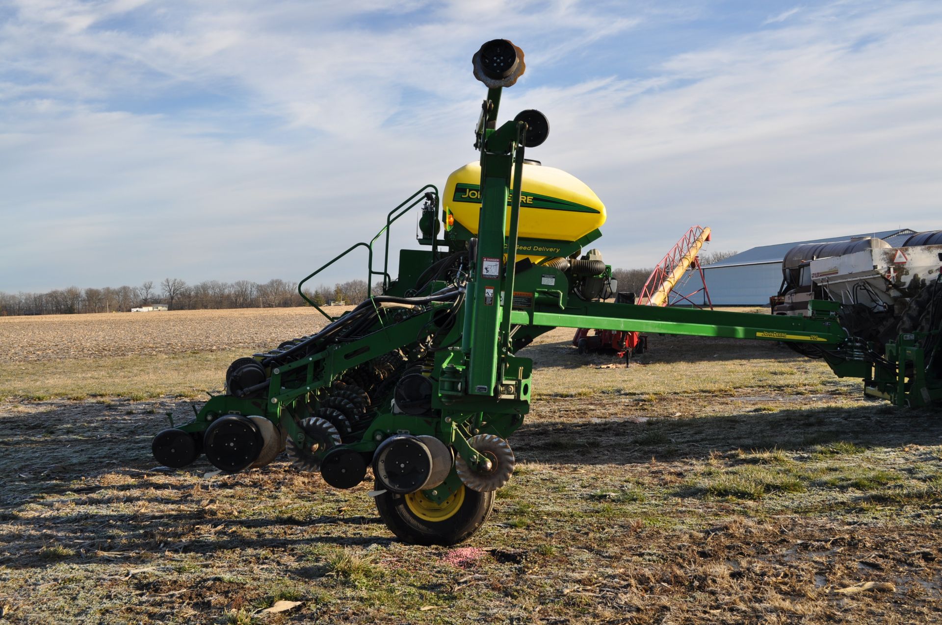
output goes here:
[[0, 317], [0, 398], [204, 397], [231, 361], [325, 323], [312, 308]]

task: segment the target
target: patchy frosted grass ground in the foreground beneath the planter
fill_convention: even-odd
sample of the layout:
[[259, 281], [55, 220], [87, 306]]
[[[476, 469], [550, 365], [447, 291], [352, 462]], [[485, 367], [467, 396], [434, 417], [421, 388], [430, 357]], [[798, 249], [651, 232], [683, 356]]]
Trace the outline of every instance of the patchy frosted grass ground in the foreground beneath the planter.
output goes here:
[[[610, 359], [578, 357], [568, 333], [528, 350], [542, 394], [512, 440], [520, 464], [460, 552], [398, 543], [368, 484], [330, 489], [284, 458], [211, 478], [204, 459], [156, 468], [151, 434], [167, 413], [192, 414], [167, 394], [0, 402], [3, 618], [939, 620], [942, 423], [931, 410], [864, 400], [774, 344], [652, 337], [641, 363], [597, 370]], [[194, 371], [219, 379], [214, 359], [224, 370], [229, 357], [121, 358], [162, 363], [148, 387], [159, 393], [195, 388]], [[104, 363], [98, 378], [45, 383], [116, 388], [127, 371], [114, 358], [82, 361]], [[864, 581], [893, 589], [834, 592]], [[261, 612], [280, 600], [301, 604]]]

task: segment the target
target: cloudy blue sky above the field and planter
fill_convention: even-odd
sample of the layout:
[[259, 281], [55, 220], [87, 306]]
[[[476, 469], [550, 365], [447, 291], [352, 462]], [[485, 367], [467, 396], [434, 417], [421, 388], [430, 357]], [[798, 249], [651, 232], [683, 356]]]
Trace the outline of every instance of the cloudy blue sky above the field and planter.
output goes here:
[[477, 160], [495, 38], [609, 264], [942, 229], [937, 0], [0, 0], [0, 291], [300, 280]]

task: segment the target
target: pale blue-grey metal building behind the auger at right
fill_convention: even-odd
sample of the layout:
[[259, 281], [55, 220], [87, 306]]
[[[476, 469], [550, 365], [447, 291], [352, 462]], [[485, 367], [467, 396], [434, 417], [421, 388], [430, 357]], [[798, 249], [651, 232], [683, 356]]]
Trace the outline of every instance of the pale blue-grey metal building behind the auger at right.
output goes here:
[[[719, 263], [704, 265], [704, 277], [707, 280], [707, 289], [709, 289], [709, 296], [714, 306], [767, 306], [769, 297], [778, 294], [779, 286], [782, 284], [782, 259], [789, 249], [797, 245], [875, 236], [895, 248], [901, 246], [911, 234], [915, 233], [915, 230], [905, 228], [759, 246], [730, 256]], [[702, 286], [700, 274], [690, 272], [684, 291], [692, 292]], [[698, 295], [697, 299], [701, 297], [703, 296]]]

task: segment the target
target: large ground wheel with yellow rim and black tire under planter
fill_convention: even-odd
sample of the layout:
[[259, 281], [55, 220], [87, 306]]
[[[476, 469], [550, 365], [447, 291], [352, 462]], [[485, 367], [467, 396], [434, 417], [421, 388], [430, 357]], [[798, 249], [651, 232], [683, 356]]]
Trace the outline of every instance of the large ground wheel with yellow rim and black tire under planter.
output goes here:
[[[377, 483], [376, 488], [382, 489], [382, 485]], [[478, 492], [463, 484], [441, 504], [421, 490], [407, 495], [387, 490], [375, 499], [386, 527], [401, 540], [418, 545], [454, 545], [467, 540], [494, 509], [493, 492]]]

